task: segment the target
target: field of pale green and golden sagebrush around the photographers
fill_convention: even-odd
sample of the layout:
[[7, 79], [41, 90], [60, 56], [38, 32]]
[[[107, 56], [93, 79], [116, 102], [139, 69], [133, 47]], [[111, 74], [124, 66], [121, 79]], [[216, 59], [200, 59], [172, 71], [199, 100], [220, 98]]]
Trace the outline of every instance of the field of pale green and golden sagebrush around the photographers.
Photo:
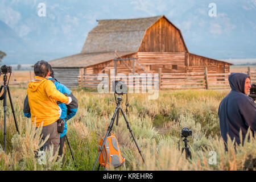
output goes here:
[[[51, 150], [44, 164], [39, 164], [34, 151], [42, 145], [40, 129], [35, 130], [31, 120], [23, 115], [26, 87], [10, 88], [20, 135], [17, 134], [9, 101], [7, 102], [7, 149], [0, 149], [0, 170], [92, 170], [97, 158], [98, 142], [105, 136], [114, 113], [113, 94], [98, 94], [73, 90], [79, 101], [79, 110], [68, 121], [68, 138], [77, 167], [66, 144], [65, 162], [56, 160]], [[127, 119], [145, 158], [135, 146], [125, 120], [119, 118], [113, 134], [118, 139], [125, 167], [114, 170], [247, 170], [255, 169], [256, 140], [251, 138], [243, 146], [229, 140], [225, 152], [220, 135], [218, 106], [229, 90], [161, 90], [156, 100], [147, 94], [129, 94]], [[125, 109], [125, 96], [122, 107]], [[1, 102], [2, 103], [2, 102]], [[192, 159], [185, 159], [181, 148], [184, 142], [181, 129], [188, 127], [192, 137], [188, 145]], [[180, 150], [179, 150], [180, 141]], [[3, 107], [0, 105], [0, 144], [3, 148]], [[110, 168], [113, 169], [113, 168]]]

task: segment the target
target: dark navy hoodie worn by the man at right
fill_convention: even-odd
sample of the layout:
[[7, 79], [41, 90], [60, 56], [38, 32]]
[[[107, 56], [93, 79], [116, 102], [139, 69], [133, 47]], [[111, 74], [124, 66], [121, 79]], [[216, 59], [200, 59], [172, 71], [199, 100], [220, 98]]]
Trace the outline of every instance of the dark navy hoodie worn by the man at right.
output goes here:
[[[231, 91], [220, 103], [218, 117], [220, 118], [221, 136], [227, 142], [227, 134], [240, 144], [239, 133], [242, 131], [243, 140], [250, 126], [256, 131], [256, 107], [253, 98], [245, 94], [245, 73], [231, 73], [229, 85]], [[250, 78], [250, 77], [249, 77]]]

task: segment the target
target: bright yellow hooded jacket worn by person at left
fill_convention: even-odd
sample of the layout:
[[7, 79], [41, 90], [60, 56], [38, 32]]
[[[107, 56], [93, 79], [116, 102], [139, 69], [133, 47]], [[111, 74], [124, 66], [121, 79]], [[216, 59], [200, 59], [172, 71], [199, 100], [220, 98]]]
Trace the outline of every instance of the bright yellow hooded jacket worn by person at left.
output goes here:
[[68, 97], [59, 92], [52, 81], [47, 78], [35, 76], [28, 83], [28, 105], [30, 106], [31, 120], [36, 127], [51, 125], [59, 119], [59, 106], [56, 101], [68, 102]]

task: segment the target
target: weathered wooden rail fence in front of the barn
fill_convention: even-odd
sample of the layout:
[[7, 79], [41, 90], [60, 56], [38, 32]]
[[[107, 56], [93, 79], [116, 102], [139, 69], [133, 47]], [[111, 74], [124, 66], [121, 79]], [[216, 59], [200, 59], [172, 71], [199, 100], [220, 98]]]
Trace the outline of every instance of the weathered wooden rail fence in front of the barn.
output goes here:
[[[247, 74], [251, 77], [251, 82], [256, 82], [256, 72], [250, 71]], [[147, 86], [159, 86], [159, 89], [229, 89], [228, 76], [230, 73], [208, 73], [191, 72], [191, 73], [162, 73], [144, 74], [144, 75], [122, 75], [114, 76], [114, 71], [108, 70], [107, 74], [84, 74], [79, 76], [79, 85], [82, 87], [97, 88], [99, 84], [107, 84], [112, 88], [112, 81], [122, 78], [127, 81], [127, 85], [133, 85], [135, 88], [142, 89]], [[108, 79], [110, 78], [110, 79]], [[105, 80], [105, 81], [104, 81]], [[149, 80], [149, 81], [148, 81]]]

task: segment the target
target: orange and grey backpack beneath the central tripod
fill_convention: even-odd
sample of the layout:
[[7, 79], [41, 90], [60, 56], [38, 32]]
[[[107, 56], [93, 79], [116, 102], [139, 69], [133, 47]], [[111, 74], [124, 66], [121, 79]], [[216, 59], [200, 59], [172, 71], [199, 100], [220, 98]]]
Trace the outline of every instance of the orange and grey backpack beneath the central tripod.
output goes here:
[[[102, 146], [104, 138], [105, 137], [101, 138], [100, 140], [98, 152], [100, 152], [100, 147]], [[104, 167], [105, 169], [108, 168], [110, 164], [112, 164], [114, 168], [121, 167], [125, 162], [125, 158], [123, 158], [121, 155], [117, 138], [113, 135], [113, 133], [110, 133], [110, 136], [106, 138], [106, 142], [102, 148], [98, 161], [101, 167]]]

